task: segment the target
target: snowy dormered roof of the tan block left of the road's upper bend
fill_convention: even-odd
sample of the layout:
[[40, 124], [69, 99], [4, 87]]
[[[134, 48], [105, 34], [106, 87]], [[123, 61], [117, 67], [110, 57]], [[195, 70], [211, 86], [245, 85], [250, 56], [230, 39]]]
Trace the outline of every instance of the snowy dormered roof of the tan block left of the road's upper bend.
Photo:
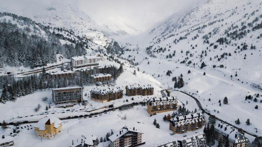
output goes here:
[[177, 104], [177, 99], [174, 97], [160, 97], [160, 98], [151, 98], [149, 99], [149, 105], [157, 106], [157, 105], [169, 105], [169, 104]]

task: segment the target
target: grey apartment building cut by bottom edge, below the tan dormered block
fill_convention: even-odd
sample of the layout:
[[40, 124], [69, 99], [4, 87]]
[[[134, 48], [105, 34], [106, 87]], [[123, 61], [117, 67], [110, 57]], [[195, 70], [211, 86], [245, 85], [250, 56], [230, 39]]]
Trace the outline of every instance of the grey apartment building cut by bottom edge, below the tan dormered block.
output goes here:
[[197, 133], [192, 136], [177, 140], [177, 147], [206, 147], [206, 135], [205, 133]]

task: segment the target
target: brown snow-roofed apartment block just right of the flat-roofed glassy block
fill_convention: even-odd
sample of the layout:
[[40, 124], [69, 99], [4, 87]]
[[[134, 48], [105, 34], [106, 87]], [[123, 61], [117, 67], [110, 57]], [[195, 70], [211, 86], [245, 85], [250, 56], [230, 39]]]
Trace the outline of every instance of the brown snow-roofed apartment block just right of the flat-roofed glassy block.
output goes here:
[[115, 99], [123, 98], [123, 89], [120, 87], [96, 87], [90, 91], [90, 97], [93, 101], [98, 101], [102, 103], [109, 102]]

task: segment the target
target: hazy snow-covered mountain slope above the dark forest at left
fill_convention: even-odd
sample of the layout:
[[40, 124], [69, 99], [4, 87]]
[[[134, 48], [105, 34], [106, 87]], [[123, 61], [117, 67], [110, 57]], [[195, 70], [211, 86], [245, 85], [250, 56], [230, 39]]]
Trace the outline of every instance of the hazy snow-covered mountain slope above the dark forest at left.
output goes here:
[[[62, 27], [84, 35], [93, 42], [106, 46], [105, 36], [121, 36], [137, 34], [138, 30], [128, 26], [121, 20], [112, 20], [109, 24], [94, 21], [79, 7], [80, 1], [2, 1], [1, 12], [11, 12], [33, 19], [50, 27]], [[30, 9], [27, 9], [30, 7]]]

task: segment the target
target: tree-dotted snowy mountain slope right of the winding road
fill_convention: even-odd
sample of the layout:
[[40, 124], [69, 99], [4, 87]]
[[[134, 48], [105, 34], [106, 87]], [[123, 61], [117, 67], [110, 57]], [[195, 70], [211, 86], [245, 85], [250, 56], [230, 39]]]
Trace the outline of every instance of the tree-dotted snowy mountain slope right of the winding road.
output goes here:
[[[127, 44], [130, 50], [122, 57], [163, 88], [174, 88], [172, 78], [182, 74], [185, 86], [180, 90], [197, 94], [210, 113], [231, 123], [239, 118], [240, 127], [261, 134], [261, 96], [258, 102], [245, 100], [261, 94], [261, 22], [261, 1], [208, 0], [152, 29], [149, 42], [133, 40], [138, 44]], [[200, 68], [203, 62], [206, 66]], [[224, 97], [228, 104], [219, 106]], [[251, 126], [245, 124], [247, 118], [253, 120]]]

